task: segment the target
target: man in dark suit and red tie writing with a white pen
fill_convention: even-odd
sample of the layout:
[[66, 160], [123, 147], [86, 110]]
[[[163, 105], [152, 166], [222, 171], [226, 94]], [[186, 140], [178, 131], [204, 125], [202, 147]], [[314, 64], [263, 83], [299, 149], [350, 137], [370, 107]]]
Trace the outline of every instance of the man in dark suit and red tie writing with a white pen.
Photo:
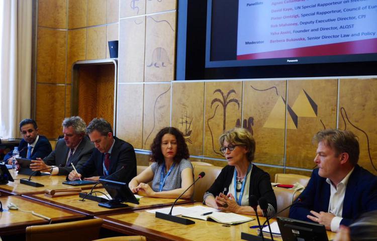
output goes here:
[[72, 170], [71, 181], [84, 178], [98, 181], [123, 168], [110, 179], [129, 183], [136, 176], [136, 155], [131, 144], [113, 136], [113, 129], [103, 118], [94, 118], [86, 128], [90, 141], [95, 145], [93, 154], [86, 163]]

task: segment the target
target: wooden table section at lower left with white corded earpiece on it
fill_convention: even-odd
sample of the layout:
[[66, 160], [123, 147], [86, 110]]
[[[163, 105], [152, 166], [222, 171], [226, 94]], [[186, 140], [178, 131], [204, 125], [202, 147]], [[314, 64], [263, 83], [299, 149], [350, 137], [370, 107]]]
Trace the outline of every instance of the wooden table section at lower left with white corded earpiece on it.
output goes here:
[[[34, 211], [52, 219], [51, 223], [76, 221], [85, 219], [86, 216], [77, 212], [47, 205], [45, 203], [30, 200], [21, 196], [0, 197], [3, 203], [3, 212], [0, 212], [0, 235], [23, 233], [27, 226], [48, 224], [49, 221], [32, 213], [24, 211]], [[19, 210], [9, 210], [8, 204], [14, 203]]]

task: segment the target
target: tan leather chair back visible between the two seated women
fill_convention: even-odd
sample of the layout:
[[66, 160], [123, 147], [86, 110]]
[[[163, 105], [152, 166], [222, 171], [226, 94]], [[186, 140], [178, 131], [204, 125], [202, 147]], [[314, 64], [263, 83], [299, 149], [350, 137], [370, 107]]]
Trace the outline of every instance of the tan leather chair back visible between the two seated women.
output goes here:
[[194, 184], [194, 200], [198, 202], [203, 202], [204, 193], [212, 186], [215, 182], [217, 176], [219, 176], [222, 167], [218, 166], [207, 166], [207, 165], [195, 165], [194, 166], [194, 179], [198, 178], [201, 172], [205, 172], [206, 175], [202, 180], [198, 180]]

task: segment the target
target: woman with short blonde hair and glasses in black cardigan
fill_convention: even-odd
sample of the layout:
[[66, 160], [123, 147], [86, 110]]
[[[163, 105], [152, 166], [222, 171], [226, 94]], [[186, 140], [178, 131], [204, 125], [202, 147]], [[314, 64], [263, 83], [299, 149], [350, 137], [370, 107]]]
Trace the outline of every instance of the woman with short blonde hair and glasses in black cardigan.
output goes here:
[[[264, 197], [268, 207], [266, 216], [276, 212], [276, 197], [268, 173], [251, 162], [254, 160], [255, 141], [243, 128], [233, 128], [223, 133], [220, 151], [228, 161], [210, 189], [204, 194], [206, 205], [234, 213], [255, 215], [249, 203], [250, 196]], [[258, 215], [263, 215], [259, 205]]]

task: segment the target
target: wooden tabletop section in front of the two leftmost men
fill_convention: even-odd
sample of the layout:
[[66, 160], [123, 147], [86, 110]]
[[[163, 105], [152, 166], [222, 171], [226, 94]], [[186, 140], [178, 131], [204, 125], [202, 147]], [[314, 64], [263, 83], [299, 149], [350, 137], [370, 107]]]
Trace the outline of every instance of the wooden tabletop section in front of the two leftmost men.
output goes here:
[[[33, 176], [32, 181], [38, 182], [45, 185], [44, 187], [32, 187], [20, 183], [21, 178], [29, 178], [28, 175], [15, 174], [14, 170], [9, 169], [12, 177], [15, 179], [14, 182], [8, 182], [8, 184], [0, 185], [0, 192], [5, 195], [23, 195], [23, 194], [36, 194], [43, 193], [45, 189], [71, 189], [80, 187], [82, 190], [90, 189], [93, 185], [83, 185], [83, 186], [71, 186], [63, 184], [65, 181], [65, 176]], [[101, 184], [100, 184], [101, 185]], [[101, 187], [101, 186], [100, 186]]]

